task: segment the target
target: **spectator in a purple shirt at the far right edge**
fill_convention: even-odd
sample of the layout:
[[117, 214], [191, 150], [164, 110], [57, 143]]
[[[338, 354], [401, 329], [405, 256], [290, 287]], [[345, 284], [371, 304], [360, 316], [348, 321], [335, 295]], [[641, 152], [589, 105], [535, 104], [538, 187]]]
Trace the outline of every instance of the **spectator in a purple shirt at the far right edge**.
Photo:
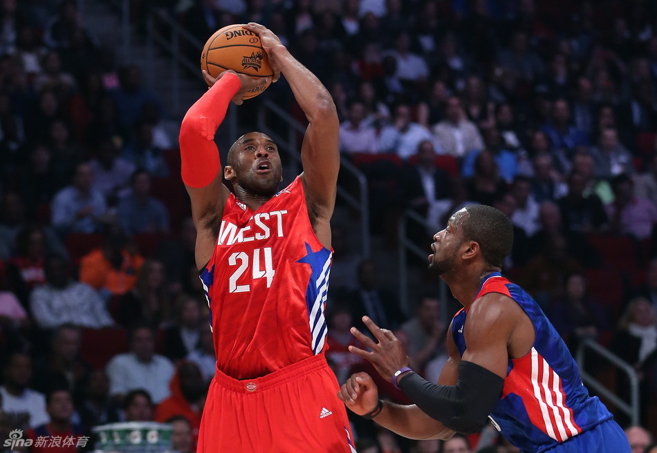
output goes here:
[[614, 200], [607, 204], [609, 230], [631, 235], [638, 240], [648, 239], [657, 225], [657, 205], [634, 195], [631, 177], [624, 173], [611, 180]]

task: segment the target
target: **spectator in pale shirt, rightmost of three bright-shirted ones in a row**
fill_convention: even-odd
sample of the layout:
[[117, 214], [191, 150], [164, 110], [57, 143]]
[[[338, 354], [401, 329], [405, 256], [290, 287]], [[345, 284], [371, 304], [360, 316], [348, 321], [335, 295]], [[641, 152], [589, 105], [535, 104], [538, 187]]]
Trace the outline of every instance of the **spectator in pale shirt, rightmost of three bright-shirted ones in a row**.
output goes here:
[[461, 99], [447, 99], [447, 116], [432, 128], [438, 141], [439, 151], [454, 157], [465, 157], [475, 150], [483, 150], [483, 139], [474, 123], [463, 113]]

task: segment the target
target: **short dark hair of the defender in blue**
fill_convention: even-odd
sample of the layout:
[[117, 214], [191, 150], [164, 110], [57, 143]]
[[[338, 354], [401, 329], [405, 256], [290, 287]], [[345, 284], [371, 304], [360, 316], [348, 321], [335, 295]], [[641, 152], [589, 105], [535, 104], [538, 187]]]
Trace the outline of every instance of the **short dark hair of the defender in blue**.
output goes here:
[[465, 206], [465, 211], [468, 215], [461, 220], [463, 239], [478, 242], [485, 262], [502, 267], [513, 244], [511, 221], [499, 209], [485, 204]]

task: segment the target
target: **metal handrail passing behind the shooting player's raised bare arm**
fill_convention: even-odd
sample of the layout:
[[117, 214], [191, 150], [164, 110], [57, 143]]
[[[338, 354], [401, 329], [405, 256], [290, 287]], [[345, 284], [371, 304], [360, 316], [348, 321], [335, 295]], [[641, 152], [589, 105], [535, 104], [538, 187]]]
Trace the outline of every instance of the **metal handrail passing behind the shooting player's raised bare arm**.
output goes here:
[[[270, 111], [282, 119], [287, 125], [287, 138], [282, 137], [272, 128], [267, 126], [267, 111]], [[279, 143], [288, 155], [297, 164], [301, 163], [301, 155], [299, 155], [299, 146], [297, 144], [297, 134], [306, 132], [306, 128], [299, 124], [289, 113], [283, 108], [280, 108], [270, 99], [266, 99], [258, 111], [258, 127], [261, 131], [272, 137], [275, 142]], [[362, 256], [370, 256], [370, 238], [369, 238], [369, 199], [367, 193], [367, 177], [351, 162], [345, 160], [340, 156], [340, 170], [347, 171], [358, 181], [358, 197], [353, 196], [344, 187], [337, 186], [337, 195], [342, 198], [349, 206], [358, 209], [360, 212], [360, 236]]]

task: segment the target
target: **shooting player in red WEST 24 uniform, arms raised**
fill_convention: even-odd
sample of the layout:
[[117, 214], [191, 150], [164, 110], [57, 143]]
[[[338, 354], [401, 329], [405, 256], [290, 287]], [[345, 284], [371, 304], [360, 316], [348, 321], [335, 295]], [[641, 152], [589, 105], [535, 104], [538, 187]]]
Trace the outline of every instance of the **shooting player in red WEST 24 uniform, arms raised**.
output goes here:
[[331, 265], [339, 122], [320, 81], [267, 28], [256, 33], [308, 118], [303, 172], [284, 190], [277, 145], [239, 137], [221, 182], [214, 133], [232, 100], [268, 84], [225, 71], [181, 126], [182, 177], [197, 229], [196, 265], [210, 306], [216, 374], [198, 453], [355, 452], [337, 380], [326, 365], [324, 304]]

